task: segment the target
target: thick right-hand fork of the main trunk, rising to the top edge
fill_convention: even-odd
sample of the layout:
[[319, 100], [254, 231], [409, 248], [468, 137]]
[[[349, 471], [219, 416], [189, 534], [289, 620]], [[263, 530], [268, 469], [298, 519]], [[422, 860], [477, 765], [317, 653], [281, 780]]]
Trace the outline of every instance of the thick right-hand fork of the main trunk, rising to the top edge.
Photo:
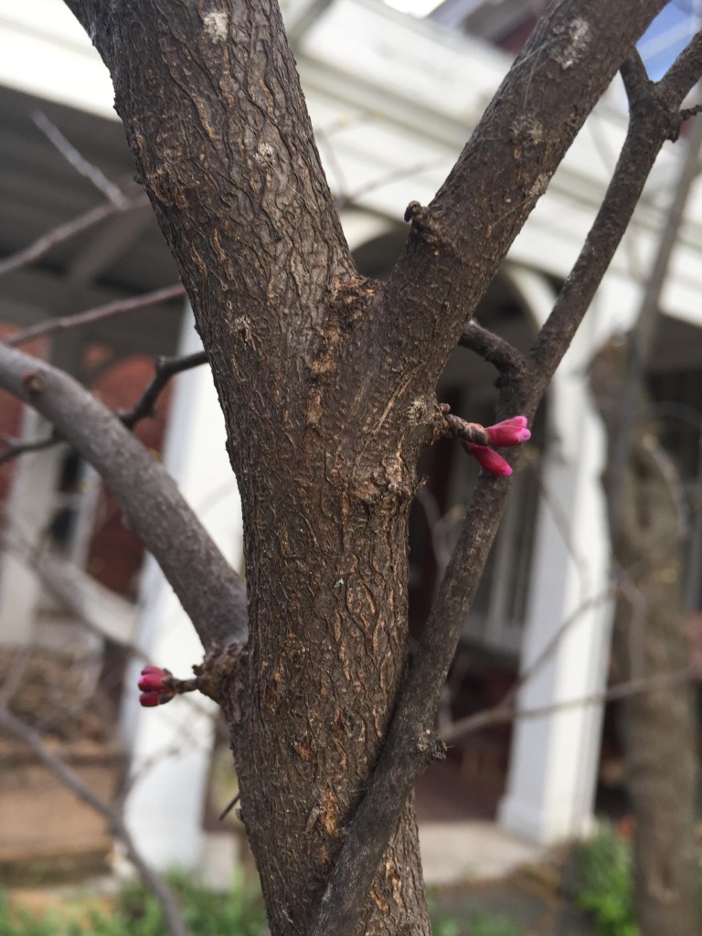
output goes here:
[[[436, 197], [405, 215], [412, 229], [382, 313], [393, 368], [406, 356], [417, 379], [428, 373], [435, 385], [578, 130], [664, 6], [565, 0], [548, 7]], [[432, 288], [408, 289], [412, 283]], [[417, 331], [431, 334], [431, 348]]]

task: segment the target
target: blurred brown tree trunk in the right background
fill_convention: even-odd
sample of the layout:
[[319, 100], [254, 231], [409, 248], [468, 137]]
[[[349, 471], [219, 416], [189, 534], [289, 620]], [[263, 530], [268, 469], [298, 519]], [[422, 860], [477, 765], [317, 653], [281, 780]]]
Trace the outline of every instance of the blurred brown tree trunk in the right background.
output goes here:
[[[622, 393], [624, 348], [611, 344], [593, 366], [610, 451], [616, 450], [612, 431], [619, 421], [613, 417]], [[654, 688], [657, 680], [680, 676], [690, 665], [680, 482], [651, 427], [634, 427], [625, 458], [617, 503], [609, 507], [610, 519], [613, 512], [618, 518], [613, 558], [621, 583], [613, 661], [620, 680], [652, 683], [650, 691], [622, 703], [627, 787], [636, 819], [636, 915], [643, 936], [695, 936], [700, 908], [692, 688], [689, 680]]]

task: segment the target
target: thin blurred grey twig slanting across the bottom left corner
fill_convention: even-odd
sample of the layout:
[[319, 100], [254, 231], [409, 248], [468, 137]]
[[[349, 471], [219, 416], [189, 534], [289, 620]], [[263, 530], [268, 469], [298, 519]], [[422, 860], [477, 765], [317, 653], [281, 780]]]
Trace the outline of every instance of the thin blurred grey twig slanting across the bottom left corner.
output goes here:
[[161, 905], [163, 914], [166, 917], [168, 929], [172, 936], [189, 936], [189, 930], [186, 929], [183, 923], [183, 917], [178, 908], [178, 902], [174, 894], [166, 882], [163, 881], [141, 857], [139, 849], [129, 829], [124, 824], [124, 819], [120, 813], [113, 809], [104, 799], [98, 797], [89, 786], [82, 782], [78, 774], [74, 773], [57, 754], [50, 751], [41, 739], [41, 736], [28, 725], [23, 724], [20, 719], [16, 718], [5, 705], [0, 705], [0, 725], [15, 738], [29, 745], [34, 753], [37, 754], [39, 760], [51, 770], [51, 773], [55, 774], [55, 776], [64, 782], [69, 789], [73, 790], [76, 796], [80, 797], [83, 802], [88, 803], [96, 812], [105, 816], [110, 823], [112, 834], [123, 842], [127, 857], [139, 871], [139, 875], [144, 884], [152, 891], [154, 897]]

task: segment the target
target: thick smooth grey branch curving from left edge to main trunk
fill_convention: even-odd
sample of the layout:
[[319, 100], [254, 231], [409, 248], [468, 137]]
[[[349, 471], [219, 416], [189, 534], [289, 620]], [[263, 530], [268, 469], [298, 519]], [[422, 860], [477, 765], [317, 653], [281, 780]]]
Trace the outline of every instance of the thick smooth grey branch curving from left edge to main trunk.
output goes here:
[[102, 475], [163, 569], [205, 649], [246, 637], [246, 597], [165, 468], [65, 373], [0, 344], [0, 387], [33, 406]]

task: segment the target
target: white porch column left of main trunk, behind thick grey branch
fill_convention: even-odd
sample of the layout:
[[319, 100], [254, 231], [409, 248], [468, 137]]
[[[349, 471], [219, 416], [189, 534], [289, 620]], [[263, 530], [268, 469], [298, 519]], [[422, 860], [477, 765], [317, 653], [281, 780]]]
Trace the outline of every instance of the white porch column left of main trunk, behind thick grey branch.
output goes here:
[[[189, 354], [200, 346], [188, 314], [181, 353]], [[227, 559], [240, 565], [239, 493], [207, 367], [177, 378], [164, 461]], [[176, 676], [190, 676], [192, 665], [202, 659], [202, 648], [153, 559], [146, 563], [141, 596], [141, 650], [153, 665], [167, 666]], [[154, 867], [192, 870], [199, 866], [202, 853], [202, 804], [217, 709], [197, 693], [179, 696], [156, 709], [141, 709], [137, 680], [142, 665], [133, 663], [125, 687], [123, 729], [136, 778], [126, 801], [125, 820]]]

